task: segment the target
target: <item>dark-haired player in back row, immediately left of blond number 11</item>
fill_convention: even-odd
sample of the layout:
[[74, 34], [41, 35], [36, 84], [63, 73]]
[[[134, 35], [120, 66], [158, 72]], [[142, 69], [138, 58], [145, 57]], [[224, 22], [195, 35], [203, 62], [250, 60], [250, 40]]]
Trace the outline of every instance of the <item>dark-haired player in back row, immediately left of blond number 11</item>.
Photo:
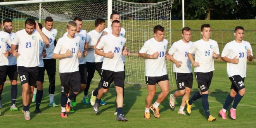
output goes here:
[[57, 36], [57, 29], [52, 28], [54, 21], [52, 17], [45, 18], [45, 27], [43, 27], [43, 33], [49, 38], [50, 43], [46, 45], [47, 56], [43, 58], [44, 68], [47, 71], [49, 79], [49, 107], [57, 107], [58, 105], [54, 102], [54, 92], [55, 92], [55, 74], [56, 74], [56, 60], [53, 59], [52, 54], [54, 51], [54, 44], [56, 42], [55, 38]]

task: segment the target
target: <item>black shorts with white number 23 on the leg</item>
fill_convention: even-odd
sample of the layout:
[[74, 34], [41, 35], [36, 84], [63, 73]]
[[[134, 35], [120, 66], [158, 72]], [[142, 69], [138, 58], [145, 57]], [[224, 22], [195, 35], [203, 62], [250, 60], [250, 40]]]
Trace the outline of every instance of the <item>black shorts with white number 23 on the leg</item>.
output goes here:
[[36, 79], [38, 76], [38, 66], [36, 67], [24, 67], [18, 66], [19, 80], [21, 80], [21, 85], [28, 83], [31, 86], [36, 85]]

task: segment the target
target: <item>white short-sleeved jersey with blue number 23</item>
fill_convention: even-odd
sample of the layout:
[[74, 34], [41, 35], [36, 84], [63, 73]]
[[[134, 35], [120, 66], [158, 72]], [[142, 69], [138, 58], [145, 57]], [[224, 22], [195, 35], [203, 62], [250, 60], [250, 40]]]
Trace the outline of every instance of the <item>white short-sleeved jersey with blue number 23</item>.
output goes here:
[[42, 41], [43, 39], [36, 30], [31, 35], [25, 29], [16, 32], [12, 44], [19, 45], [17, 66], [36, 67], [39, 65], [40, 40]]

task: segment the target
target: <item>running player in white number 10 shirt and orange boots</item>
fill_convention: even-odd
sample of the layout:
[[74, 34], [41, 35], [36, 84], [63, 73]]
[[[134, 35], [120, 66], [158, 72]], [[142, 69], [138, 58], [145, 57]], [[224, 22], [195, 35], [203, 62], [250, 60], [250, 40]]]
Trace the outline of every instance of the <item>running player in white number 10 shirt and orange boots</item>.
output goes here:
[[[168, 41], [164, 39], [164, 27], [154, 27], [154, 38], [147, 40], [140, 49], [139, 56], [145, 58], [145, 80], [147, 83], [148, 95], [146, 97], [144, 118], [150, 119], [151, 109], [156, 118], [160, 118], [159, 105], [169, 93], [169, 78], [166, 69], [165, 59], [170, 60], [166, 55]], [[161, 88], [154, 104], [152, 100], [156, 93], [156, 84]]]

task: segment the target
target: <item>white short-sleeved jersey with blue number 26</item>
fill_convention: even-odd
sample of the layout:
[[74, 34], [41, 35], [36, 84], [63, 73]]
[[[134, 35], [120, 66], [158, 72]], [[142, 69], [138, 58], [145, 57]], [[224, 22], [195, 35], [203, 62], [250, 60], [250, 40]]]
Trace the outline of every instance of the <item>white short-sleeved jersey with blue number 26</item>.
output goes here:
[[195, 62], [199, 62], [199, 66], [195, 67], [195, 72], [208, 73], [214, 70], [213, 52], [220, 54], [218, 43], [209, 39], [197, 40], [188, 51], [190, 54], [195, 53]]

